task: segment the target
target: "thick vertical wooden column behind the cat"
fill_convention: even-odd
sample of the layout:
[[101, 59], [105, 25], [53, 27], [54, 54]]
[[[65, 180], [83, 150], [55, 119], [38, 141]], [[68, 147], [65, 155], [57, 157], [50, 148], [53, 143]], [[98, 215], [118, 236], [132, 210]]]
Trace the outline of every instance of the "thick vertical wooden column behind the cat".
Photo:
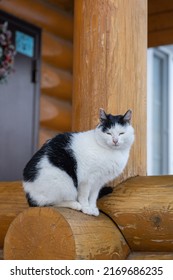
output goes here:
[[[76, 0], [73, 130], [98, 123], [98, 110], [133, 110], [136, 140], [117, 182], [146, 175], [147, 0]], [[117, 183], [116, 182], [116, 183]]]

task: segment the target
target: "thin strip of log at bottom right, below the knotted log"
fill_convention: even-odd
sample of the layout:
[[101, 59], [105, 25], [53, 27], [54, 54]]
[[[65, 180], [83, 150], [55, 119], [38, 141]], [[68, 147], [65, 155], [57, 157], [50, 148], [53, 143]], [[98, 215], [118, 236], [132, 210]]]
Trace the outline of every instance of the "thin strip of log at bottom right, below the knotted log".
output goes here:
[[173, 253], [170, 252], [134, 252], [128, 260], [173, 260]]

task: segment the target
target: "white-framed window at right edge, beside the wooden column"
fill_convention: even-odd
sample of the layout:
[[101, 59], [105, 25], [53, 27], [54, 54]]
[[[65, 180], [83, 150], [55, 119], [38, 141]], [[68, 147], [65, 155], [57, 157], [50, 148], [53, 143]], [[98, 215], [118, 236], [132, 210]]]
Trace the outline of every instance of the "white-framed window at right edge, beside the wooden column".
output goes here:
[[148, 50], [147, 173], [173, 173], [173, 47]]

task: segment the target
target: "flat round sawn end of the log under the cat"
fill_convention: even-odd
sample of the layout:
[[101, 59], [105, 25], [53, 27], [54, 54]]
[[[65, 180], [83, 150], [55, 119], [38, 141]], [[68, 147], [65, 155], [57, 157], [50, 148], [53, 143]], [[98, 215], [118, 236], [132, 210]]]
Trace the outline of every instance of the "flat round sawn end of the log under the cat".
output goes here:
[[10, 225], [4, 259], [75, 259], [74, 237], [68, 222], [53, 208], [29, 208]]

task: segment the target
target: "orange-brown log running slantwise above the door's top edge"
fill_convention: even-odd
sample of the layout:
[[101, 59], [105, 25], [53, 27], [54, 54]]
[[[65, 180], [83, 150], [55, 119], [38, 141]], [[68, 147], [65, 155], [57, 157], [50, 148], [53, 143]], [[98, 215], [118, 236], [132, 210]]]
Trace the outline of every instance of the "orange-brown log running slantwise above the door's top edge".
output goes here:
[[73, 16], [52, 9], [44, 1], [3, 0], [0, 1], [0, 9], [61, 38], [73, 40]]

